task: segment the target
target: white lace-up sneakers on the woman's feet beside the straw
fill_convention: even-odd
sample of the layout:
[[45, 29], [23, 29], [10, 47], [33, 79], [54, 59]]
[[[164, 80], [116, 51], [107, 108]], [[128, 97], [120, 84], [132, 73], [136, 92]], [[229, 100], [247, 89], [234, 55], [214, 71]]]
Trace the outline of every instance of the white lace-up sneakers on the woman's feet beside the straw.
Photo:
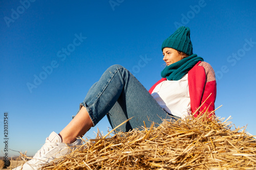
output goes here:
[[75, 149], [77, 145], [81, 144], [81, 139], [76, 139], [74, 143], [68, 145], [66, 143], [62, 143], [60, 136], [57, 133], [52, 132], [50, 136], [46, 138], [46, 143], [39, 151], [37, 151], [35, 156], [33, 156], [33, 159], [29, 160], [21, 166], [14, 168], [14, 170], [39, 169], [44, 164], [51, 162], [55, 158], [71, 153], [71, 149]]

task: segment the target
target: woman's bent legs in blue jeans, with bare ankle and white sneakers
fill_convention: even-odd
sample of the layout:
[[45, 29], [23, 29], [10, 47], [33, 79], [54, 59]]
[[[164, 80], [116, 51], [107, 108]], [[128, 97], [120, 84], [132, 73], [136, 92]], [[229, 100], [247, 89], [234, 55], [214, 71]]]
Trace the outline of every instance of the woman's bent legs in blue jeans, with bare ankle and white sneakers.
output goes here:
[[[81, 140], [76, 137], [84, 135], [108, 112], [113, 128], [133, 117], [118, 129], [121, 131], [144, 126], [143, 121], [146, 127], [150, 127], [151, 121], [160, 124], [167, 116], [151, 94], [127, 69], [113, 65], [90, 88], [84, 102], [80, 104], [79, 112], [68, 126], [59, 135], [52, 132], [46, 139], [46, 144], [32, 160], [23, 165], [23, 169], [38, 169], [42, 163], [71, 152], [70, 147], [81, 144]], [[17, 169], [22, 169], [22, 166]]]

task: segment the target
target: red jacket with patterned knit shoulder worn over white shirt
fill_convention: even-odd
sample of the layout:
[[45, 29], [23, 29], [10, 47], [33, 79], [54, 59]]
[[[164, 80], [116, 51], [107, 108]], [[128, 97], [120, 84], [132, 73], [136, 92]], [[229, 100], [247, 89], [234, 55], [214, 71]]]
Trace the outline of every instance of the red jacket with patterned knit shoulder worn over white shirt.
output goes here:
[[[150, 88], [149, 92], [152, 93], [154, 88], [165, 80], [167, 79], [162, 78], [159, 80]], [[195, 117], [197, 117], [200, 113], [204, 113], [206, 110], [208, 112], [215, 110], [214, 103], [216, 100], [217, 87], [215, 72], [210, 64], [199, 61], [193, 68], [188, 71], [188, 89], [191, 112]], [[200, 109], [197, 111], [199, 107]], [[213, 114], [215, 115], [215, 113]], [[211, 116], [212, 114], [208, 115], [208, 117]]]

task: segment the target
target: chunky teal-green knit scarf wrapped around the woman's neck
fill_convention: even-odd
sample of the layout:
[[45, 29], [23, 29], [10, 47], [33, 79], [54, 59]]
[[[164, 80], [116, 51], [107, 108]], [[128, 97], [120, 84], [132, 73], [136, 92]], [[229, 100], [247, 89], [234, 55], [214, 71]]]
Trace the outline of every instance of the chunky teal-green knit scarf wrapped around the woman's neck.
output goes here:
[[188, 56], [176, 63], [166, 66], [161, 71], [161, 77], [167, 80], [180, 80], [199, 61], [204, 61], [204, 59], [198, 57], [197, 54]]

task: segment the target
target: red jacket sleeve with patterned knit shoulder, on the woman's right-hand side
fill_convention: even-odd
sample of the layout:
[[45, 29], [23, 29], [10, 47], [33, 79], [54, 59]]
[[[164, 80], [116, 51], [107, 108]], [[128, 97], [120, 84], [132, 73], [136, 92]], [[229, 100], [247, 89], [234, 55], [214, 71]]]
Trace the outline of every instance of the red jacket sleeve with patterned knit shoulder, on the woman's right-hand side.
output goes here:
[[[200, 112], [205, 112], [206, 110], [208, 112], [215, 110], [215, 100], [216, 100], [216, 93], [217, 93], [217, 86], [216, 86], [216, 77], [214, 69], [211, 67], [211, 65], [207, 62], [201, 62], [199, 66], [203, 66], [205, 70], [206, 75], [206, 84], [205, 89], [202, 96], [202, 103], [205, 101], [205, 103], [200, 108]], [[208, 98], [209, 96], [209, 98]], [[208, 98], [208, 99], [207, 99]], [[206, 100], [207, 99], [207, 100]], [[215, 113], [213, 113], [215, 114]], [[209, 114], [209, 117], [211, 117], [212, 114]]]

